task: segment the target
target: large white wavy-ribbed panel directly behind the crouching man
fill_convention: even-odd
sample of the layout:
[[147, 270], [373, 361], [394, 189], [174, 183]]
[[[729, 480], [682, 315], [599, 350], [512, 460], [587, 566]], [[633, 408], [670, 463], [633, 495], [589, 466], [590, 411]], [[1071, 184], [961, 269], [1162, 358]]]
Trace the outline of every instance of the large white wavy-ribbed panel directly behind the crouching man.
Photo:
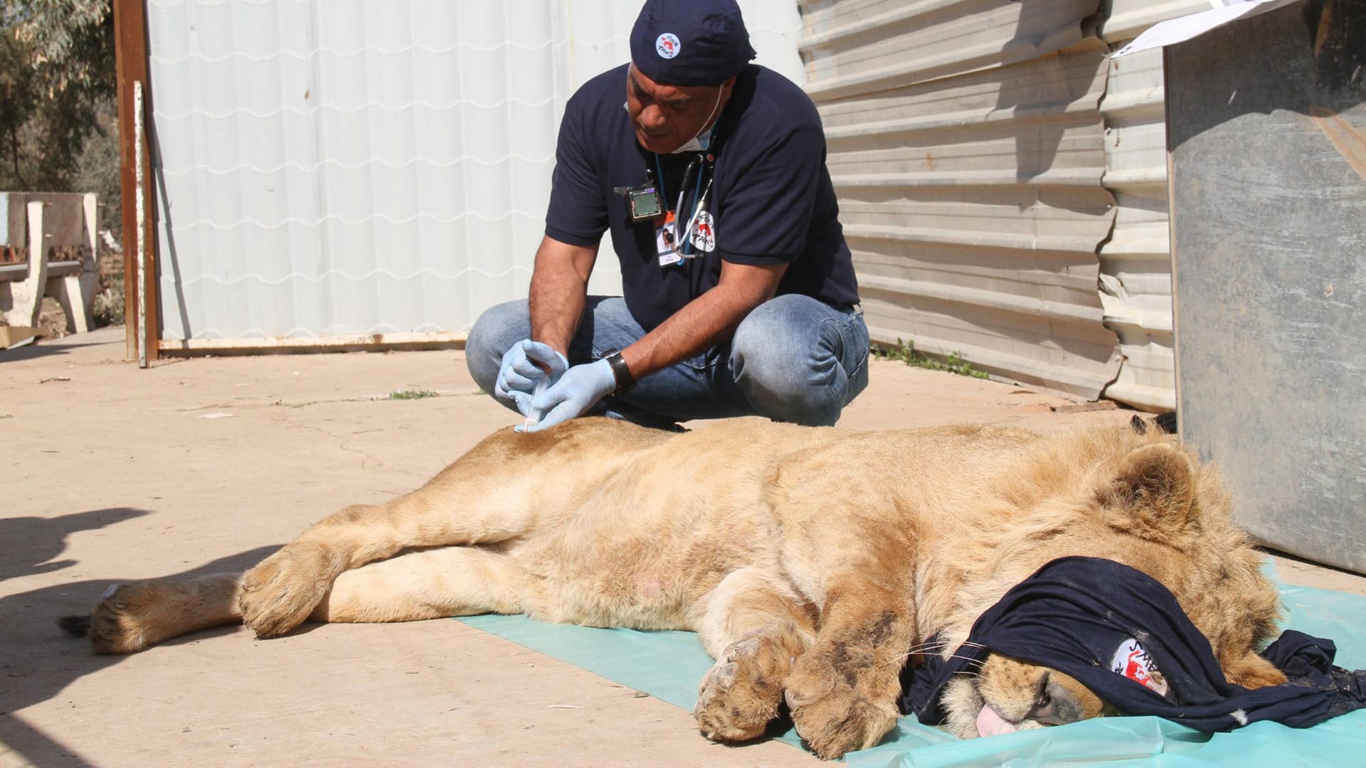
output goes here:
[[[458, 338], [526, 295], [564, 101], [639, 5], [148, 0], [163, 339]], [[800, 82], [794, 3], [742, 8]]]

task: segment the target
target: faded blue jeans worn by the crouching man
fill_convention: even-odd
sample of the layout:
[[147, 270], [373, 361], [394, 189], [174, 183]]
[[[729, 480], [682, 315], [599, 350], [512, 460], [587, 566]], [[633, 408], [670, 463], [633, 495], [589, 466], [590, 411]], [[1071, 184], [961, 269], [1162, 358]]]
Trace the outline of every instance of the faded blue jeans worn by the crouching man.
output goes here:
[[[489, 307], [474, 323], [464, 359], [485, 392], [493, 392], [503, 353], [530, 335], [525, 299]], [[570, 342], [570, 365], [624, 348], [643, 335], [624, 299], [589, 297]], [[867, 387], [867, 342], [858, 309], [839, 310], [803, 295], [776, 297], [751, 312], [731, 340], [641, 379], [594, 413], [652, 425], [732, 415], [831, 425]], [[515, 410], [511, 402], [499, 402]]]

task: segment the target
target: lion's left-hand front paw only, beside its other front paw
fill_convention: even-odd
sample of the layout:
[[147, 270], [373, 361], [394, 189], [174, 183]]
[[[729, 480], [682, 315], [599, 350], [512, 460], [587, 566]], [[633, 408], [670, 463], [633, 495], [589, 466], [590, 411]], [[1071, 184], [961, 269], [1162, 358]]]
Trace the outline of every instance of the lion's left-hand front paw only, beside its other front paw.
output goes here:
[[702, 678], [693, 716], [702, 735], [738, 742], [758, 738], [777, 716], [783, 674], [791, 657], [759, 637], [732, 642]]

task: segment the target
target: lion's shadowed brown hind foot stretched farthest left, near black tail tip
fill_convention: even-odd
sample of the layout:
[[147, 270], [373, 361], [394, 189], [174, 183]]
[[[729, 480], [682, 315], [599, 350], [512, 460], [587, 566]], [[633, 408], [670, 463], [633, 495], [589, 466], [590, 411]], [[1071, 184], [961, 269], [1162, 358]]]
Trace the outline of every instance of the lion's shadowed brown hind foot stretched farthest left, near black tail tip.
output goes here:
[[113, 585], [90, 616], [96, 653], [137, 653], [189, 631], [235, 625], [240, 574]]

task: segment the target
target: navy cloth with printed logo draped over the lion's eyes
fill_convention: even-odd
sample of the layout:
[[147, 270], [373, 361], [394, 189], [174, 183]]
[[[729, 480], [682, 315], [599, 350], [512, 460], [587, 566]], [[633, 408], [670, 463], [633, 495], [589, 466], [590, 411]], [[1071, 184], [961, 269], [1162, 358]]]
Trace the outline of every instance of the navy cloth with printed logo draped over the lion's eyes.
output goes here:
[[1156, 715], [1205, 732], [1257, 720], [1309, 727], [1366, 707], [1366, 670], [1335, 667], [1336, 650], [1330, 640], [1287, 630], [1262, 657], [1290, 682], [1229, 683], [1165, 586], [1113, 560], [1060, 558], [982, 614], [951, 659], [926, 653], [922, 664], [907, 666], [900, 708], [941, 723], [949, 678], [994, 652], [1065, 672], [1124, 715]]

